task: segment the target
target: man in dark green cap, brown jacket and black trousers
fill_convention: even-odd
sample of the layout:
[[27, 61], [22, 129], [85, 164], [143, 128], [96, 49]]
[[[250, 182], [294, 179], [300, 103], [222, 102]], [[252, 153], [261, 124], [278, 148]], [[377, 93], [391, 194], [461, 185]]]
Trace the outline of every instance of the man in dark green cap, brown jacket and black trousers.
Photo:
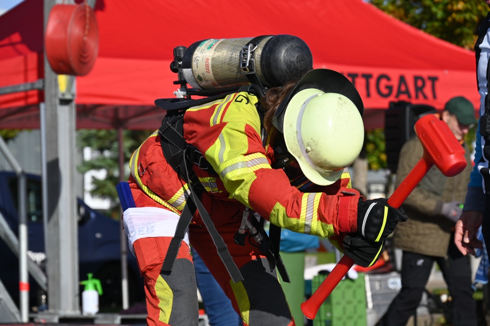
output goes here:
[[[416, 312], [434, 263], [439, 265], [452, 297], [448, 324], [476, 326], [476, 302], [471, 287], [469, 257], [454, 243], [454, 228], [466, 196], [472, 170], [470, 150], [464, 142], [469, 128], [476, 124], [475, 108], [464, 97], [446, 102], [440, 113], [449, 129], [465, 150], [467, 166], [457, 176], [447, 177], [436, 167], [415, 187], [402, 204], [409, 217], [393, 232], [393, 245], [403, 252], [402, 288], [389, 305], [378, 326], [405, 326]], [[397, 185], [422, 157], [423, 148], [416, 136], [402, 147], [397, 169]]]

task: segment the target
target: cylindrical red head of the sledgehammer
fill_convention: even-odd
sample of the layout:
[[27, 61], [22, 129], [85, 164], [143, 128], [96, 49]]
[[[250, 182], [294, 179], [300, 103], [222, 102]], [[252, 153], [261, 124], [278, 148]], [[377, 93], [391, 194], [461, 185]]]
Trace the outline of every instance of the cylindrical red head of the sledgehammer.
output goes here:
[[424, 148], [424, 159], [434, 163], [444, 176], [456, 176], [464, 170], [464, 148], [444, 121], [433, 114], [425, 115], [415, 123], [415, 133]]

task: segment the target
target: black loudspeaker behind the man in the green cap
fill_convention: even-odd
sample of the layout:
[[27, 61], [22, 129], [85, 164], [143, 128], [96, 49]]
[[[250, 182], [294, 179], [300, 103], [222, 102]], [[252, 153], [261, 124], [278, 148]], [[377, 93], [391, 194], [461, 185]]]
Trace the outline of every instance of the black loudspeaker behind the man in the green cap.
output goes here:
[[437, 113], [437, 110], [430, 105], [406, 101], [389, 103], [385, 111], [385, 140], [387, 167], [392, 173], [396, 173], [403, 144], [415, 134], [415, 122], [428, 113]]

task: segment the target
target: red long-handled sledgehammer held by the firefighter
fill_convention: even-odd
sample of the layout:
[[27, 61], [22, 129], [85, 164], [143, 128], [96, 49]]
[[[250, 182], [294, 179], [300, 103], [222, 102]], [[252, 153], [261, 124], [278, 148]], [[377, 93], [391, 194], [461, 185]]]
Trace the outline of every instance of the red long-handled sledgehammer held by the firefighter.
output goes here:
[[[422, 143], [424, 154], [389, 197], [388, 204], [395, 208], [401, 206], [433, 165], [436, 165], [444, 176], [456, 176], [466, 167], [463, 147], [446, 123], [438, 120], [435, 115], [428, 114], [417, 120], [415, 133]], [[301, 304], [301, 310], [306, 317], [315, 318], [321, 304], [328, 298], [353, 264], [354, 261], [346, 255], [340, 259], [313, 295]]]

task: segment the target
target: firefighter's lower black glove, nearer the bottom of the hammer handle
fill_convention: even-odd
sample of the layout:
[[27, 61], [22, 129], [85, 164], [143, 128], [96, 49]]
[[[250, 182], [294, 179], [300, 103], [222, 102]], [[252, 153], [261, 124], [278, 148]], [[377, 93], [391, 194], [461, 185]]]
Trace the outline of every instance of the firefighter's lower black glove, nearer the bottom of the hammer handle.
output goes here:
[[349, 233], [345, 236], [343, 246], [344, 253], [356, 264], [369, 267], [381, 257], [385, 250], [385, 241], [368, 241], [357, 233]]

